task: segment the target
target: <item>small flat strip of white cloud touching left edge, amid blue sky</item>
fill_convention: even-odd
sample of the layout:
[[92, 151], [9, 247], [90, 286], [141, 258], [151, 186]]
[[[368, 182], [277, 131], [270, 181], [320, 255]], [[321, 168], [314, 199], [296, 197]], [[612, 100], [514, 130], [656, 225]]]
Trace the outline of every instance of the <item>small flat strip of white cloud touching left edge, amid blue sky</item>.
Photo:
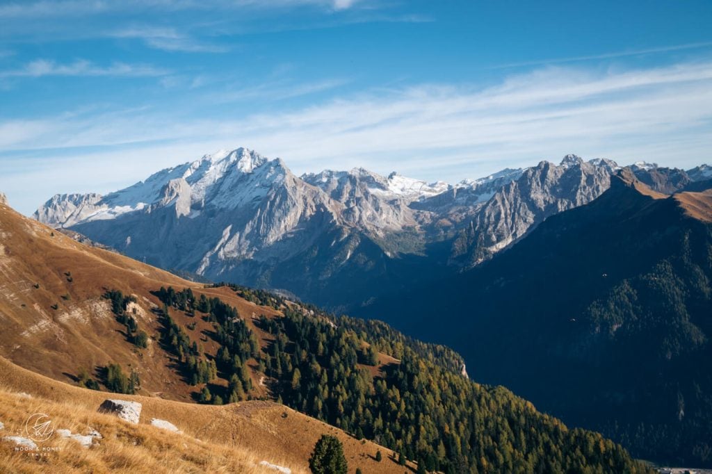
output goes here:
[[53, 60], [33, 60], [21, 68], [0, 70], [0, 78], [41, 78], [43, 76], [159, 76], [168, 71], [155, 68], [152, 65], [111, 63], [97, 65], [88, 60], [75, 60], [73, 63], [61, 64]]

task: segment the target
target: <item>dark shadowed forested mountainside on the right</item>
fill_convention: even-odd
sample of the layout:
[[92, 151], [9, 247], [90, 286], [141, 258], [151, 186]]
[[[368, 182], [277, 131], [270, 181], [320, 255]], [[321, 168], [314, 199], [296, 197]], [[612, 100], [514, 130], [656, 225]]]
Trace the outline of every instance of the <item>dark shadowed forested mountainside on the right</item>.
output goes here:
[[712, 191], [629, 172], [462, 275], [376, 302], [503, 384], [638, 457], [712, 465]]

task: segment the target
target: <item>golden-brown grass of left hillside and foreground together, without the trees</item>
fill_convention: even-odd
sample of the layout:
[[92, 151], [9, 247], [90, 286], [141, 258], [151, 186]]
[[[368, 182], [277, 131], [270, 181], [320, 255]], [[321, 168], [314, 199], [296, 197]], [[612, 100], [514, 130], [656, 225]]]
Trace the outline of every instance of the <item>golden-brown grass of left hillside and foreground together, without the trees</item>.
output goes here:
[[[229, 288], [202, 288], [117, 253], [85, 246], [0, 204], [0, 422], [5, 425], [0, 437], [13, 435], [9, 432], [17, 431], [36, 411], [50, 415], [56, 428], [76, 433], [90, 424], [105, 436], [98, 447], [86, 450], [77, 445], [52, 453], [51, 460], [23, 457], [12, 451], [11, 443], [1, 443], [1, 473], [277, 472], [254, 465], [262, 460], [302, 473], [308, 472], [308, 457], [324, 433], [342, 440], [350, 470], [404, 471], [389, 460], [392, 453], [385, 448], [357, 441], [286, 406], [268, 401], [225, 406], [182, 403], [191, 400], [196, 387], [182, 380], [172, 368], [172, 355], [160, 349], [160, 325], [152, 312], [160, 302], [150, 292], [168, 285], [221, 297], [239, 310], [263, 344], [269, 335], [258, 330], [252, 319], [281, 315], [238, 297]], [[101, 297], [109, 289], [137, 297], [138, 324], [151, 336], [147, 349], [126, 341], [122, 325]], [[187, 319], [182, 320], [187, 316], [179, 312], [173, 316], [187, 324]], [[209, 323], [198, 317], [190, 320], [197, 322], [195, 330], [189, 330], [192, 339], [214, 354], [216, 344], [199, 339]], [[394, 362], [385, 355], [381, 358]], [[140, 395], [91, 391], [66, 383], [80, 368], [91, 371], [110, 362], [139, 370]], [[261, 374], [254, 369], [253, 396], [267, 394], [266, 386], [259, 383]], [[98, 414], [98, 406], [108, 398], [139, 401], [141, 424], [131, 426]], [[150, 426], [152, 418], [167, 420], [184, 434]], [[51, 443], [65, 447], [75, 441], [53, 438]], [[384, 458], [381, 463], [374, 459], [378, 450]]]

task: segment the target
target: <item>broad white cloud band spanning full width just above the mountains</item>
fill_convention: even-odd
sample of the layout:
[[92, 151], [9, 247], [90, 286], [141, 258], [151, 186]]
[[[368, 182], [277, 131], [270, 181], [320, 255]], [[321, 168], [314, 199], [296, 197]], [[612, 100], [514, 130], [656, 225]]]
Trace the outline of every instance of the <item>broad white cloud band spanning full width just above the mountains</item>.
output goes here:
[[[239, 146], [283, 157], [295, 172], [364, 166], [449, 181], [567, 152], [692, 167], [709, 161], [711, 126], [710, 62], [605, 73], [549, 67], [486, 89], [421, 85], [277, 114], [147, 110], [8, 121], [0, 123], [0, 161], [13, 166], [0, 189], [29, 212], [49, 191], [108, 191]], [[33, 157], [41, 161], [28, 166]]]

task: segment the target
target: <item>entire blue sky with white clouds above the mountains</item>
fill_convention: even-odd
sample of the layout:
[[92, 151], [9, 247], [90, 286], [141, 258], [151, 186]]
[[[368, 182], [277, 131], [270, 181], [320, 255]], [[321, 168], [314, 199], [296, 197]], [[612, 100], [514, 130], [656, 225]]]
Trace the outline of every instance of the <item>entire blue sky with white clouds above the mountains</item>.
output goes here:
[[0, 1], [0, 191], [31, 213], [240, 146], [433, 181], [689, 168], [711, 24], [710, 1]]

